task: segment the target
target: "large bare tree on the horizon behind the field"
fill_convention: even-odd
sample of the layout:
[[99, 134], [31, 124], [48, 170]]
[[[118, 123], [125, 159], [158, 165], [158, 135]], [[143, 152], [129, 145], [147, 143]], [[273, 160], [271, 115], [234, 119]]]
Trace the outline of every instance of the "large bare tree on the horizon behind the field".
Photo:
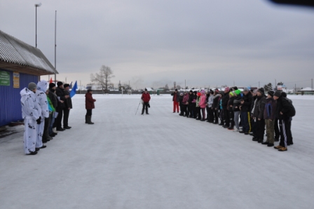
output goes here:
[[106, 93], [108, 93], [108, 86], [110, 85], [110, 80], [112, 78], [114, 78], [114, 72], [112, 72], [110, 67], [107, 67], [106, 65], [102, 65], [102, 67], [100, 67], [99, 74], [90, 74], [90, 81], [102, 86], [102, 91], [106, 90]]

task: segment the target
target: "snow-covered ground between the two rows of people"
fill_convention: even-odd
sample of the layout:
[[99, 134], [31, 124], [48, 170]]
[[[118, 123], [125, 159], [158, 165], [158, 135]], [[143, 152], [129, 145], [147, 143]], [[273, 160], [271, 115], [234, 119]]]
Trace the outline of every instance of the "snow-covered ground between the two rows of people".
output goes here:
[[0, 208], [314, 208], [314, 96], [290, 96], [294, 145], [172, 113], [170, 95], [94, 95], [92, 121], [75, 95], [71, 130], [36, 156], [22, 132], [0, 139]]

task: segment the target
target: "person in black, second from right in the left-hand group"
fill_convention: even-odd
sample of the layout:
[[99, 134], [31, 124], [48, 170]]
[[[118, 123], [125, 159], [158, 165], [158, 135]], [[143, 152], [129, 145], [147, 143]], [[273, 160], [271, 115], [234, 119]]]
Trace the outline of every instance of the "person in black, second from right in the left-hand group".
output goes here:
[[69, 95], [65, 96], [64, 95], [64, 87], [63, 83], [58, 81], [57, 82], [57, 88], [55, 89], [55, 94], [57, 95], [57, 119], [55, 119], [55, 127], [57, 128], [57, 131], [63, 131], [65, 130], [64, 128], [61, 127], [61, 122], [62, 122], [62, 114], [63, 114], [63, 109], [65, 108], [64, 101], [69, 97]]

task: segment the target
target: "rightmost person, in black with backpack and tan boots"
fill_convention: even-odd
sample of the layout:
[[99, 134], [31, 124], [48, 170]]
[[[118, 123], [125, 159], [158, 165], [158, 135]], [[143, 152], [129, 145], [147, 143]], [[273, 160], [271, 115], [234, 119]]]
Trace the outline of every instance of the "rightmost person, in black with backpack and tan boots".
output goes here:
[[275, 146], [278, 151], [287, 151], [287, 142], [291, 142], [291, 120], [295, 115], [295, 109], [289, 100], [282, 97], [281, 92], [276, 90], [273, 99], [277, 101], [276, 116], [279, 120], [280, 126], [280, 143]]

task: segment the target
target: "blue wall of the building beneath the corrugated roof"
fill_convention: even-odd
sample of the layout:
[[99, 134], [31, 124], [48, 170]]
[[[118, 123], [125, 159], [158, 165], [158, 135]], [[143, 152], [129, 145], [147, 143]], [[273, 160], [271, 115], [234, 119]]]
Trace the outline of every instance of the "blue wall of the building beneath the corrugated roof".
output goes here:
[[13, 121], [22, 120], [22, 107], [20, 91], [28, 86], [28, 83], [38, 82], [38, 76], [20, 73], [20, 88], [13, 88], [13, 72], [10, 73], [10, 86], [0, 86], [0, 126], [6, 126]]

